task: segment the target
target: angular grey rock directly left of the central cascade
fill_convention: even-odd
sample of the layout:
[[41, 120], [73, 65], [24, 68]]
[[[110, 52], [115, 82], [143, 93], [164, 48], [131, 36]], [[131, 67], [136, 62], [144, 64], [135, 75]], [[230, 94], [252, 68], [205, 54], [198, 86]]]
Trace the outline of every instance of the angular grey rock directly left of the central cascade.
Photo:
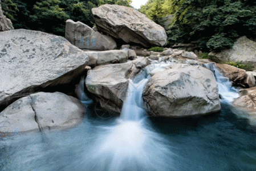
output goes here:
[[122, 64], [97, 66], [88, 72], [86, 87], [101, 107], [119, 113], [125, 100], [129, 78], [150, 64], [146, 58], [137, 58]]

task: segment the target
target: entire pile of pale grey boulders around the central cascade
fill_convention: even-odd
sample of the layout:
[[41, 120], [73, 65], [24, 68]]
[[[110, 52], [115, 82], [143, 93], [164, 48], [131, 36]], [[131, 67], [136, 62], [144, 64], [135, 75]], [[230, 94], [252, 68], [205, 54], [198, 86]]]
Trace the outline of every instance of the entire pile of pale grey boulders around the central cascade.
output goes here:
[[[145, 73], [151, 78], [143, 99], [151, 116], [221, 110], [214, 73], [204, 67], [210, 60], [176, 48], [144, 49], [164, 46], [166, 34], [134, 9], [103, 5], [92, 11], [97, 28], [68, 20], [66, 39], [23, 29], [0, 32], [0, 133], [74, 127], [86, 112], [87, 105], [78, 100], [84, 92], [101, 108], [120, 113], [132, 93], [131, 80]], [[234, 85], [255, 86], [254, 72], [217, 66]], [[244, 92], [234, 104], [244, 101], [254, 109], [254, 88]]]

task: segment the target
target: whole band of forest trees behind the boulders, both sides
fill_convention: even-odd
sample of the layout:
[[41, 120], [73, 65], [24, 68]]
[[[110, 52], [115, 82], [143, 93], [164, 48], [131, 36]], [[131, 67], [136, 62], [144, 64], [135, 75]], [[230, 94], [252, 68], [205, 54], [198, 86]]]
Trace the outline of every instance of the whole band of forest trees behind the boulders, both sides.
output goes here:
[[[136, 1], [136, 0], [134, 0]], [[94, 26], [91, 9], [105, 3], [131, 7], [131, 0], [2, 0], [2, 9], [14, 28], [64, 35], [67, 19]], [[256, 36], [256, 1], [251, 0], [149, 0], [139, 11], [156, 23], [173, 15], [168, 46], [196, 43], [203, 51], [233, 46], [243, 35]]]

